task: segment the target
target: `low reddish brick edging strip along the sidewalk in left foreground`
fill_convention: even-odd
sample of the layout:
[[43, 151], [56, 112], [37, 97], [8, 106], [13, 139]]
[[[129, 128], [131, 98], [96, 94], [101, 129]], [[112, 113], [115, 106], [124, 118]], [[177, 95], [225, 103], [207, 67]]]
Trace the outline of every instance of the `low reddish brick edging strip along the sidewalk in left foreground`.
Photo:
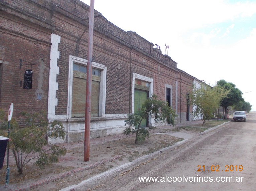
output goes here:
[[67, 171], [67, 172], [61, 172], [61, 173], [56, 174], [54, 176], [49, 176], [47, 178], [43, 178], [43, 179], [34, 181], [33, 183], [29, 183], [29, 184], [21, 186], [21, 187], [11, 188], [8, 191], [29, 191], [31, 189], [37, 188], [37, 187], [42, 186], [44, 184], [47, 184], [49, 182], [53, 182], [55, 180], [59, 180], [61, 178], [68, 177], [68, 176], [70, 176], [72, 174], [75, 174], [75, 173], [78, 173], [78, 172], [83, 172], [85, 170], [89, 170], [89, 169], [95, 168], [95, 167], [97, 167], [97, 166], [99, 166], [101, 164], [104, 164], [106, 162], [110, 162], [110, 161], [116, 160], [116, 159], [118, 159], [120, 157], [121, 157], [121, 155], [117, 155], [117, 156], [111, 157], [109, 159], [104, 159], [102, 161], [95, 162], [95, 163], [90, 164], [90, 165], [86, 165], [85, 167], [79, 167], [79, 168], [75, 168], [75, 169]]

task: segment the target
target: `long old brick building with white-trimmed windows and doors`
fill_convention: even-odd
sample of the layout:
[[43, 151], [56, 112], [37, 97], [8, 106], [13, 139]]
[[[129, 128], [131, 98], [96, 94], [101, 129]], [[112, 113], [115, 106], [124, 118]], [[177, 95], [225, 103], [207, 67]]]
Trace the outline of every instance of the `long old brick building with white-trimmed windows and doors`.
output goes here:
[[[13, 102], [14, 117], [45, 110], [50, 122], [65, 125], [66, 142], [83, 140], [89, 6], [79, 0], [2, 0], [0, 12], [0, 107], [8, 110]], [[121, 133], [126, 114], [152, 94], [169, 102], [178, 122], [189, 120], [188, 96], [197, 79], [153, 45], [95, 10], [92, 137]], [[23, 87], [26, 70], [33, 72], [31, 89]], [[157, 125], [151, 117], [144, 123], [150, 125]]]

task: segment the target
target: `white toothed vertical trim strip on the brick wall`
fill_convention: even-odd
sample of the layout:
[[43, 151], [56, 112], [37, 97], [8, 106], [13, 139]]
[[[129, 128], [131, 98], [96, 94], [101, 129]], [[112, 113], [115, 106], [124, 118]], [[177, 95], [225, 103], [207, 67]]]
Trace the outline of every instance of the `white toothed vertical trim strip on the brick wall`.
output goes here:
[[48, 90], [48, 119], [52, 119], [55, 115], [55, 106], [58, 105], [56, 98], [56, 90], [58, 90], [57, 75], [59, 67], [57, 61], [59, 59], [58, 44], [60, 36], [51, 34], [51, 52], [50, 52], [50, 70], [49, 70], [49, 90]]

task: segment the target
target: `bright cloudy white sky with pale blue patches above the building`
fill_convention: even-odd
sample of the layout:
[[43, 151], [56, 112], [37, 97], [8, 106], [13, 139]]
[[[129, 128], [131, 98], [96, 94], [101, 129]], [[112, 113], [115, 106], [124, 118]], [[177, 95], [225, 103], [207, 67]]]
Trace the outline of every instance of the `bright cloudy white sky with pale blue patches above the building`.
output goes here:
[[95, 0], [94, 8], [189, 75], [235, 84], [256, 111], [256, 0]]

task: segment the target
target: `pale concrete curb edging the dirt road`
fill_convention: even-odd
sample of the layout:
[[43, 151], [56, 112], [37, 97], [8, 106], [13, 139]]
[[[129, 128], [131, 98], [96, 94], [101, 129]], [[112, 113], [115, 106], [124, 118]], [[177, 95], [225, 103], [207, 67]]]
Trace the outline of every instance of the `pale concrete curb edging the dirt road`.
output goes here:
[[[204, 132], [202, 132], [203, 134], [202, 133], [201, 134], [204, 135], [204, 134], [206, 134], [206, 133], [208, 133], [208, 132], [210, 132], [210, 131], [212, 131], [214, 129], [217, 129], [217, 128], [219, 128], [219, 127], [221, 127], [221, 126], [223, 126], [223, 125], [225, 125], [225, 124], [227, 124], [229, 122], [230, 121], [225, 122], [225, 123], [223, 123], [221, 125], [218, 125], [216, 127], [213, 127], [211, 129], [205, 130]], [[163, 148], [163, 149], [161, 149], [159, 151], [156, 151], [154, 153], [145, 155], [145, 156], [140, 157], [140, 158], [138, 158], [138, 159], [136, 159], [136, 160], [134, 160], [132, 162], [125, 163], [125, 164], [123, 164], [121, 166], [118, 166], [116, 168], [113, 168], [113, 169], [108, 170], [106, 172], [103, 172], [101, 174], [98, 174], [98, 175], [96, 175], [94, 177], [91, 177], [91, 178], [89, 178], [87, 180], [84, 180], [84, 181], [80, 182], [79, 184], [71, 185], [71, 186], [69, 186], [67, 188], [63, 188], [63, 189], [61, 189], [59, 191], [80, 191], [80, 190], [82, 191], [82, 190], [86, 190], [86, 189], [91, 189], [91, 188], [93, 188], [93, 187], [95, 187], [97, 185], [102, 184], [103, 182], [106, 182], [106, 181], [110, 180], [111, 178], [114, 178], [115, 176], [117, 176], [117, 174], [121, 174], [122, 172], [130, 170], [133, 167], [139, 165], [140, 163], [143, 163], [143, 162], [146, 162], [146, 161], [148, 161], [148, 160], [150, 160], [152, 158], [158, 157], [158, 156], [164, 154], [165, 152], [167, 152], [169, 150], [172, 150], [172, 149], [174, 149], [174, 148], [176, 148], [176, 147], [178, 147], [178, 146], [180, 146], [180, 145], [182, 145], [184, 143], [191, 142], [191, 141], [195, 140], [196, 138], [197, 137], [191, 138], [191, 139], [184, 139], [184, 140], [182, 140], [182, 141], [180, 141], [178, 143], [175, 143], [172, 146], [165, 147], [165, 148]]]

